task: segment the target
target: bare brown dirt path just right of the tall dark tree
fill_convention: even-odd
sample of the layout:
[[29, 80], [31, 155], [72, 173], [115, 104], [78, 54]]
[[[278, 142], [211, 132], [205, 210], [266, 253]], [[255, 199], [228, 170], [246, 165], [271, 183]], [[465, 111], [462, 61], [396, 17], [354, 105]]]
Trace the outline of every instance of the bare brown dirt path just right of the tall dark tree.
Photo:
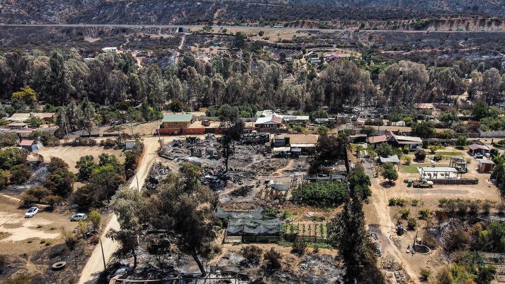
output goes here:
[[[379, 184], [380, 180], [372, 179], [372, 197], [371, 203], [374, 205], [376, 213], [376, 220], [379, 226], [379, 230], [381, 234], [379, 236], [379, 241], [381, 244], [381, 248], [383, 250], [382, 255], [385, 257], [393, 257], [403, 265], [403, 269], [405, 272], [409, 274], [414, 283], [419, 283], [420, 280], [418, 278], [419, 268], [420, 267], [412, 267], [411, 263], [406, 256], [405, 249], [398, 248], [393, 241], [391, 240], [391, 235], [395, 233], [396, 227], [394, 222], [389, 217], [389, 207], [388, 205], [388, 194], [387, 188], [382, 187]], [[409, 255], [410, 256], [410, 255]]]

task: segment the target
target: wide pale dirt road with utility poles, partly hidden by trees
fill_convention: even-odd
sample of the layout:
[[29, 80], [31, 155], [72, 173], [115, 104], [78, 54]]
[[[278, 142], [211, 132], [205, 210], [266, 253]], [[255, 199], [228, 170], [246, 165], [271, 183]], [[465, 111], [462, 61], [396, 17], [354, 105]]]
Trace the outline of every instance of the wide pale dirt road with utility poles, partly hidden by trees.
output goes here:
[[[173, 140], [174, 137], [165, 137], [165, 141]], [[157, 150], [159, 148], [158, 137], [146, 137], [143, 140], [144, 143], [144, 155], [140, 160], [138, 166], [138, 180], [139, 185], [143, 186], [144, 180], [149, 174], [149, 169], [151, 165], [153, 165], [156, 161], [156, 157], [158, 157]], [[128, 184], [130, 187], [137, 187], [136, 179], [133, 177]], [[112, 216], [111, 221], [106, 225], [105, 229], [102, 230], [102, 242], [104, 247], [104, 255], [105, 261], [108, 263], [111, 260], [112, 255], [117, 251], [119, 244], [113, 242], [109, 238], [104, 238], [104, 234], [109, 231], [109, 229], [119, 229], [119, 223], [116, 215]], [[89, 284], [95, 283], [100, 272], [104, 270], [104, 263], [102, 260], [102, 250], [100, 246], [96, 246], [93, 250], [93, 253], [89, 257], [88, 262], [84, 266], [81, 272], [81, 277], [79, 279], [79, 284]]]

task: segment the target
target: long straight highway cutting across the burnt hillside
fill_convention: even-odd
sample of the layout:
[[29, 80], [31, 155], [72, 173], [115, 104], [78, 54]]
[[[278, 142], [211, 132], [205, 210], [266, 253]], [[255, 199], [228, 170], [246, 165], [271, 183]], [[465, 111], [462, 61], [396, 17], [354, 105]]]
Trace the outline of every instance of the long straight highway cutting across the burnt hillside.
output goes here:
[[[2, 27], [112, 27], [112, 28], [201, 28], [202, 25], [142, 25], [142, 24], [0, 24], [0, 29]], [[370, 30], [370, 29], [320, 29], [320, 28], [294, 28], [294, 27], [256, 27], [256, 26], [211, 26], [212, 28], [226, 28], [226, 29], [265, 29], [265, 30], [300, 30], [300, 31], [311, 31], [311, 30], [321, 30], [321, 31], [333, 31], [333, 32], [343, 32], [343, 31], [369, 31], [369, 32], [402, 32], [402, 33], [427, 33], [426, 30]], [[473, 31], [457, 31], [457, 30], [438, 30], [429, 33], [505, 33], [502, 31], [486, 31], [486, 30], [473, 30]]]

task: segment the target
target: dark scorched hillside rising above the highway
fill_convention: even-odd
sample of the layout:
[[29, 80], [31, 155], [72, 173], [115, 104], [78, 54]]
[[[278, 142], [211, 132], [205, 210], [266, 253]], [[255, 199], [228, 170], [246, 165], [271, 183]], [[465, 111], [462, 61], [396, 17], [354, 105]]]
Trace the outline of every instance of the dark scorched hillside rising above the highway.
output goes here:
[[[358, 9], [359, 8], [359, 9]], [[6, 0], [3, 23], [203, 24], [505, 16], [505, 3], [470, 0]]]

